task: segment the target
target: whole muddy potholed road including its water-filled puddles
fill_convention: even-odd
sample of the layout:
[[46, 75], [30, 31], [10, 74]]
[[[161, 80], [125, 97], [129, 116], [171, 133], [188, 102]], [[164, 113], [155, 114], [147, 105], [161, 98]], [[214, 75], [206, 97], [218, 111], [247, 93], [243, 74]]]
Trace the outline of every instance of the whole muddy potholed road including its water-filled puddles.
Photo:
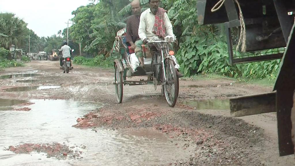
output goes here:
[[116, 104], [113, 69], [33, 61], [0, 76], [0, 165], [295, 165], [278, 157], [275, 113], [230, 117], [229, 97], [272, 87], [181, 80], [170, 108], [153, 85]]

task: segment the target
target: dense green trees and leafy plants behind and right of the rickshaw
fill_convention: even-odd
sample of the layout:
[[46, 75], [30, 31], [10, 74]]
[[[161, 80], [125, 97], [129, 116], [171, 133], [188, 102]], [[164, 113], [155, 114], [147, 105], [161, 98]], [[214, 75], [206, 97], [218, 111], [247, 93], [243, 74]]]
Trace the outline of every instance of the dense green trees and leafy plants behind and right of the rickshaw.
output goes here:
[[[178, 40], [176, 58], [180, 70], [187, 77], [194, 74], [214, 74], [238, 79], [274, 80], [280, 60], [229, 65], [223, 25], [199, 25], [197, 0], [161, 0], [160, 7], [168, 10], [173, 32]], [[131, 15], [131, 0], [101, 0], [81, 6], [72, 14], [75, 24], [71, 27], [73, 40], [81, 40], [84, 51], [99, 55], [92, 59], [74, 58], [74, 63], [87, 66], [112, 64], [109, 56], [116, 33], [125, 27]], [[148, 0], [140, 0], [142, 11], [148, 9]], [[232, 31], [237, 35], [237, 30]], [[239, 53], [237, 53], [239, 54]], [[259, 52], [266, 55], [267, 51]], [[104, 56], [103, 56], [104, 55]], [[108, 62], [108, 57], [111, 60]], [[108, 65], [106, 65], [108, 66]]]

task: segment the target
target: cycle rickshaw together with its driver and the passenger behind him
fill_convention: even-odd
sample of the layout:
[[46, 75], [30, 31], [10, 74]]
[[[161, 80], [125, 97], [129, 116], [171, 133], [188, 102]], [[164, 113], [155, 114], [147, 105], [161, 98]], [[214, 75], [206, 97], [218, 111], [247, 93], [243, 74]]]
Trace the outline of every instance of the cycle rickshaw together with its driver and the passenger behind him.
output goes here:
[[[174, 107], [178, 97], [178, 78], [183, 77], [172, 50], [176, 37], [166, 11], [158, 7], [159, 0], [149, 0], [149, 4], [150, 8], [141, 13], [140, 2], [132, 1], [134, 15], [127, 20], [127, 29], [117, 33], [114, 42], [113, 50], [122, 56], [122, 60], [114, 61], [117, 101], [122, 102], [123, 84], [154, 84], [155, 89], [162, 85], [168, 105]], [[143, 75], [148, 79], [126, 79]]]

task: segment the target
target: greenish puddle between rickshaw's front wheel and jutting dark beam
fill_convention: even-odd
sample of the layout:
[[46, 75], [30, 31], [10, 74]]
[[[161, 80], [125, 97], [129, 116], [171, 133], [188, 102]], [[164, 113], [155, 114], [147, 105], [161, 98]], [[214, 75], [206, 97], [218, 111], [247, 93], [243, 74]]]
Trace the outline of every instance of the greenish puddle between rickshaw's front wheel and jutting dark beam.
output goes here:
[[230, 109], [229, 99], [191, 100], [191, 101], [183, 101], [182, 104], [196, 107], [197, 109], [200, 109], [200, 110], [229, 110]]

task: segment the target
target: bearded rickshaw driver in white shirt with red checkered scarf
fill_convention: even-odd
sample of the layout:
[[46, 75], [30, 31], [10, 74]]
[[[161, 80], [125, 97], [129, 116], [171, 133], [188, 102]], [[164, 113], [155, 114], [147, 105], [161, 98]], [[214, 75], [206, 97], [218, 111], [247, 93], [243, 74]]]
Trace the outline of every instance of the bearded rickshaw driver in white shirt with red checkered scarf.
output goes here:
[[[159, 6], [159, 0], [149, 0], [150, 8], [145, 10], [140, 15], [140, 23], [138, 29], [138, 36], [142, 40], [143, 44], [148, 43], [151, 38], [165, 38], [169, 37], [170, 40], [176, 38], [173, 34], [173, 27], [168, 18], [166, 10]], [[140, 45], [140, 51], [142, 47]], [[137, 49], [137, 47], [136, 47]], [[142, 54], [137, 54], [137, 58], [140, 61], [140, 66], [144, 67]], [[176, 69], [177, 77], [183, 77], [183, 75]]]

